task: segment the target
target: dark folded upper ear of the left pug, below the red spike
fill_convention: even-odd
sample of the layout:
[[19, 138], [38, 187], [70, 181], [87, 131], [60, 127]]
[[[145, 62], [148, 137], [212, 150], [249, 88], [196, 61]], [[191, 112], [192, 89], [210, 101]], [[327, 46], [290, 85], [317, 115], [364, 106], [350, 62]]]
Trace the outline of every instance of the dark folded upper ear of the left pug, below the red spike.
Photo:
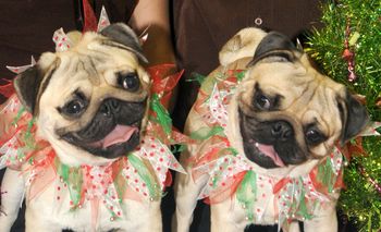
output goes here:
[[[140, 47], [139, 39], [137, 38], [134, 30], [130, 28], [127, 25], [123, 23], [111, 24], [107, 26], [105, 29], [102, 29], [100, 34], [102, 36], [110, 38], [114, 42], [122, 45], [121, 47], [122, 49], [132, 51], [139, 58], [139, 60], [142, 60], [145, 63], [148, 63], [147, 58], [143, 54], [143, 49]], [[107, 44], [107, 45], [118, 47], [112, 44]]]

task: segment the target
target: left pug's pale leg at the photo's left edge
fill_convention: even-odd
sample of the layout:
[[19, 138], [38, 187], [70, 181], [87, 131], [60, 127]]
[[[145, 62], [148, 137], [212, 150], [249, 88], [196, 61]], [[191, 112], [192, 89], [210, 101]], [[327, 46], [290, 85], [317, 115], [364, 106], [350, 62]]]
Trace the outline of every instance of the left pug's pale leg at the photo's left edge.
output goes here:
[[10, 231], [23, 202], [24, 180], [21, 172], [7, 169], [1, 183], [0, 231]]

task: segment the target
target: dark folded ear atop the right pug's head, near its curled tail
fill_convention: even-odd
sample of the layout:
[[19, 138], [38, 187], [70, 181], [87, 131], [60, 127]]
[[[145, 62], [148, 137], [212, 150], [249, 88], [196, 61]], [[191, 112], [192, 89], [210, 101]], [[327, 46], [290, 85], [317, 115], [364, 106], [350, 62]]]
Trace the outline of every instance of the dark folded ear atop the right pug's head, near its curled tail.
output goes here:
[[258, 61], [267, 59], [269, 62], [293, 62], [298, 50], [290, 38], [281, 33], [269, 33], [258, 45], [253, 60], [247, 66], [253, 66]]

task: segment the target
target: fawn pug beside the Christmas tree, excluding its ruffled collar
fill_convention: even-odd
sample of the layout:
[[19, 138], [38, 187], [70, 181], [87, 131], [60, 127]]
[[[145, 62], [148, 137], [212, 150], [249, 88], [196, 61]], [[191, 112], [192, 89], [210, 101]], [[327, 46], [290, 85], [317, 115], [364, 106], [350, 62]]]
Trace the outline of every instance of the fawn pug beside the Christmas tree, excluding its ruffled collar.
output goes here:
[[[276, 224], [278, 219], [282, 218], [280, 213], [284, 212], [278, 203], [290, 196], [276, 195], [274, 181], [309, 176], [314, 168], [332, 154], [336, 144], [344, 144], [361, 132], [368, 122], [367, 111], [344, 85], [318, 72], [303, 49], [276, 32], [242, 29], [221, 49], [220, 63], [221, 65], [204, 81], [204, 91], [199, 94], [199, 98], [205, 98], [205, 89], [208, 89], [204, 85], [219, 83], [221, 73], [232, 70], [245, 71], [226, 103], [225, 143], [229, 143], [236, 154], [243, 155], [241, 160], [236, 160], [244, 163], [243, 167], [249, 167], [246, 170], [251, 170], [257, 176], [267, 178], [269, 181], [265, 183], [261, 182], [261, 178], [257, 179], [260, 186], [254, 186], [253, 190], [261, 191], [261, 195], [253, 199], [254, 205], [241, 205], [234, 190], [226, 199], [211, 204], [211, 231], [244, 231], [251, 223]], [[202, 103], [211, 101], [211, 97], [206, 99], [190, 110], [185, 133], [192, 135], [208, 126], [206, 117], [199, 114]], [[218, 121], [217, 118], [216, 120]], [[212, 146], [208, 143], [202, 141], [192, 144], [181, 155], [181, 161], [188, 173], [195, 171], [189, 160], [200, 158], [201, 150]], [[225, 159], [226, 162], [229, 160]], [[218, 164], [217, 161], [209, 162], [210, 167]], [[233, 167], [226, 166], [225, 169]], [[221, 170], [213, 173], [223, 171], [224, 166], [219, 167]], [[197, 180], [193, 179], [193, 174], [176, 176], [174, 231], [189, 230], [193, 210], [200, 193], [209, 194], [205, 192], [209, 184], [213, 186], [218, 183], [218, 178], [226, 178], [209, 175], [204, 174]], [[221, 191], [222, 193], [224, 192]], [[339, 191], [331, 192], [324, 195], [324, 200], [316, 202], [318, 206], [314, 205], [312, 216], [304, 220], [304, 231], [337, 231], [335, 205], [339, 194]], [[293, 203], [284, 202], [284, 206], [288, 204]], [[254, 212], [253, 218], [248, 217], [247, 211]], [[284, 231], [299, 231], [297, 219], [299, 218], [290, 215], [285, 219], [287, 227], [283, 227]]]

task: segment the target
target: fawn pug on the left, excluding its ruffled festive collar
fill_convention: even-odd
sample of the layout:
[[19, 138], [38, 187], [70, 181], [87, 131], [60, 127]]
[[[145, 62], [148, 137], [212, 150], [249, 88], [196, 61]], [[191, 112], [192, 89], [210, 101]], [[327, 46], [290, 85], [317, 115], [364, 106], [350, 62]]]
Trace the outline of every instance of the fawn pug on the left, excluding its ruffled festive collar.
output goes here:
[[[133, 151], [147, 121], [150, 77], [139, 40], [124, 24], [100, 33], [72, 34], [76, 45], [66, 51], [42, 53], [37, 64], [14, 81], [20, 101], [37, 125], [37, 136], [49, 142], [66, 167], [102, 166]], [[76, 39], [75, 39], [76, 38]], [[25, 185], [7, 170], [0, 231], [15, 220]], [[58, 178], [56, 181], [60, 181]], [[26, 203], [26, 231], [161, 231], [160, 200], [121, 199], [123, 217], [110, 220], [100, 206], [96, 228], [91, 206], [71, 212], [70, 197], [54, 202], [54, 184]], [[2, 188], [4, 190], [4, 188]], [[29, 191], [26, 190], [26, 198]]]

